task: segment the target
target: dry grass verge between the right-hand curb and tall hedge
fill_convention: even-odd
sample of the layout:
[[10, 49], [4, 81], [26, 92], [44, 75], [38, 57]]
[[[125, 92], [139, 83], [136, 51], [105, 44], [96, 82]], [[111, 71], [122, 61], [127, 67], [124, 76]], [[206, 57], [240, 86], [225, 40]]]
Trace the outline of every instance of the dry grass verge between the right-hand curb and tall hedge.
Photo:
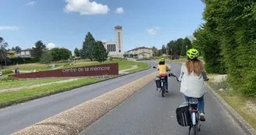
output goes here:
[[256, 130], [256, 98], [245, 98], [235, 91], [219, 91], [214, 82], [208, 85]]

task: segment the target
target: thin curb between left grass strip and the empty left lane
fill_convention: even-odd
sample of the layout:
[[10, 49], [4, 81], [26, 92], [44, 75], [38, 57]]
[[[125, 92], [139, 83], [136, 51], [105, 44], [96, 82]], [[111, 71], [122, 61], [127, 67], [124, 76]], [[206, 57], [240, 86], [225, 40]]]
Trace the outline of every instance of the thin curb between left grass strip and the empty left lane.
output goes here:
[[[151, 66], [148, 69], [150, 69], [150, 68], [151, 68]], [[142, 71], [145, 71], [145, 70], [148, 70], [148, 69], [142, 69], [142, 70], [136, 71], [134, 73], [139, 73], [139, 72], [142, 72]], [[31, 97], [31, 98], [26, 98], [26, 99], [23, 99], [23, 100], [20, 100], [20, 101], [12, 101], [12, 102], [9, 102], [9, 103], [0, 104], [0, 109], [1, 108], [7, 108], [7, 107], [10, 107], [12, 105], [21, 104], [21, 103], [24, 103], [24, 102], [27, 102], [27, 101], [33, 101], [35, 99], [48, 97], [48, 96], [51, 96], [53, 94], [59, 94], [59, 93], [66, 92], [66, 91], [72, 91], [73, 89], [76, 89], [76, 88], [86, 87], [86, 86], [89, 86], [89, 85], [92, 85], [92, 84], [95, 84], [95, 83], [101, 83], [101, 82], [104, 82], [104, 81], [107, 81], [107, 80], [116, 79], [118, 77], [130, 75], [130, 74], [133, 74], [133, 73], [121, 74], [119, 76], [114, 76], [114, 77], [111, 77], [111, 78], [108, 78], [108, 79], [105, 79], [105, 80], [100, 80], [100, 81], [97, 81], [97, 82], [94, 82], [94, 83], [87, 83], [87, 84], [84, 84], [84, 85], [81, 85], [81, 86], [74, 86], [74, 87], [70, 87], [70, 88], [67, 88], [67, 89], [61, 89], [59, 91], [55, 91], [55, 92], [51, 92], [51, 93], [47, 93], [47, 94], [37, 95], [37, 96]]]

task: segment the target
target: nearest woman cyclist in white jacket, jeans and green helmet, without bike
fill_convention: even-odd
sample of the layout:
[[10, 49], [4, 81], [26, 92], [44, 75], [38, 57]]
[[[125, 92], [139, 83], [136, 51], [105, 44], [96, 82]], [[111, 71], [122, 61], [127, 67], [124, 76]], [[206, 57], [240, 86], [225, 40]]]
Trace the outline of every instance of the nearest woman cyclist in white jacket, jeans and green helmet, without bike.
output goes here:
[[208, 76], [204, 70], [204, 64], [198, 58], [197, 49], [191, 48], [187, 51], [187, 62], [183, 63], [180, 71], [180, 92], [183, 98], [188, 101], [189, 98], [197, 98], [198, 109], [200, 111], [201, 121], [205, 121], [204, 117], [204, 93], [207, 91], [204, 81], [208, 80]]

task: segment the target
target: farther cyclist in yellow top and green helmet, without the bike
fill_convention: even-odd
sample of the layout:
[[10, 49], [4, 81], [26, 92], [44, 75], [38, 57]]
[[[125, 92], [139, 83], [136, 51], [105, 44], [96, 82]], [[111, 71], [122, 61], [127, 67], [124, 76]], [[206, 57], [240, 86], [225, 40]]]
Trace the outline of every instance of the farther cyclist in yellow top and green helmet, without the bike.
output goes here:
[[168, 73], [167, 71], [171, 70], [171, 66], [165, 64], [165, 58], [160, 58], [159, 63], [158, 63], [158, 71], [159, 71], [159, 76], [165, 76], [165, 84], [166, 84], [166, 93], [168, 93]]

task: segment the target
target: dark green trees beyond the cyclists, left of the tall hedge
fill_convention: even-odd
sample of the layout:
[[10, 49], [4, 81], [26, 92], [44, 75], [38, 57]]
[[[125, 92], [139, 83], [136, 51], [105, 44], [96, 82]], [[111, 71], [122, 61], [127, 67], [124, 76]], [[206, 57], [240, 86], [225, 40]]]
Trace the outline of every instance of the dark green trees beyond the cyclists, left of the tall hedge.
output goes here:
[[180, 56], [186, 56], [187, 50], [190, 48], [192, 48], [192, 43], [188, 37], [178, 38], [169, 41], [166, 45], [163, 44], [160, 49], [153, 46], [153, 57], [169, 55], [172, 59], [180, 59]]

